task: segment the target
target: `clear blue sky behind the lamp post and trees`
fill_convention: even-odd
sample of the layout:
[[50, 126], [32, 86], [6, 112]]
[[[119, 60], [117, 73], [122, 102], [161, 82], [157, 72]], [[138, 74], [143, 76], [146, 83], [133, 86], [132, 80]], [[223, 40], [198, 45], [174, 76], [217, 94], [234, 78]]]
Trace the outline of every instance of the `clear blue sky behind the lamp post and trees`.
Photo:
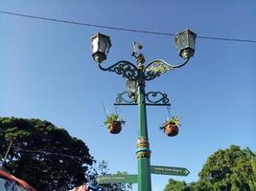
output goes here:
[[[201, 36], [256, 40], [256, 2], [226, 1], [92, 1], [2, 0], [0, 11], [76, 22], [175, 33], [186, 28]], [[137, 108], [120, 107], [128, 124], [118, 136], [103, 126], [103, 103], [115, 112], [116, 94], [125, 79], [104, 73], [92, 60], [89, 38], [110, 35], [105, 65], [130, 62], [134, 40], [144, 45], [148, 62], [178, 57], [172, 36], [122, 32], [23, 18], [0, 13], [0, 116], [35, 117], [81, 138], [110, 173], [137, 173]], [[147, 91], [169, 95], [172, 115], [182, 117], [180, 134], [168, 138], [158, 130], [165, 107], [148, 108], [151, 164], [181, 166], [188, 177], [152, 175], [152, 190], [170, 178], [198, 180], [207, 157], [231, 144], [256, 151], [256, 43], [198, 39], [195, 56], [184, 68], [149, 82]], [[134, 190], [135, 190], [134, 186]]]

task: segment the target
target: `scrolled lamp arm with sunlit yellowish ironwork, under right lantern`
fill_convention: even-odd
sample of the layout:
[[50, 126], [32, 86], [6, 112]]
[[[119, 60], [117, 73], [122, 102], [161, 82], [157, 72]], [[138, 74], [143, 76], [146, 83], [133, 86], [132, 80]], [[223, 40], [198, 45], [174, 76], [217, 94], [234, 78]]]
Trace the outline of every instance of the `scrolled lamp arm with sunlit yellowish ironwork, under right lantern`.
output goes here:
[[162, 59], [153, 60], [151, 61], [150, 64], [148, 64], [148, 66], [145, 67], [143, 71], [143, 75], [144, 75], [143, 77], [145, 80], [150, 81], [155, 77], [160, 76], [160, 74], [164, 74], [168, 71], [173, 71], [176, 68], [185, 66], [188, 63], [188, 61], [189, 61], [189, 58], [186, 59], [185, 62], [182, 64], [172, 65]]

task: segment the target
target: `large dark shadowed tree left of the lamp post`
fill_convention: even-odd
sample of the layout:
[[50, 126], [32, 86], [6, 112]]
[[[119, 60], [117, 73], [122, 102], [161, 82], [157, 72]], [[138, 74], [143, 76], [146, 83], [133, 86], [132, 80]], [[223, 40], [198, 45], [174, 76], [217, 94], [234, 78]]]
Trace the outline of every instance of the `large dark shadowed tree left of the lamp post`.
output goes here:
[[84, 173], [94, 161], [84, 142], [64, 129], [15, 117], [0, 117], [0, 155], [3, 168], [38, 191], [68, 190], [87, 182]]

